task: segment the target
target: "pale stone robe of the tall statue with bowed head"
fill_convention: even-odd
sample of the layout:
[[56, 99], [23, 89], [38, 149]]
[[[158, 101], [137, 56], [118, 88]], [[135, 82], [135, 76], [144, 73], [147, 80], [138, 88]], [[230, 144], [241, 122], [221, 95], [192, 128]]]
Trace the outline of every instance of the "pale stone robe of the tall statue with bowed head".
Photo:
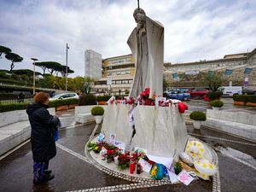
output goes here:
[[131, 32], [127, 44], [135, 58], [135, 77], [130, 96], [137, 97], [146, 88], [150, 88], [149, 97], [163, 94], [164, 67], [164, 27], [146, 16], [146, 34]]

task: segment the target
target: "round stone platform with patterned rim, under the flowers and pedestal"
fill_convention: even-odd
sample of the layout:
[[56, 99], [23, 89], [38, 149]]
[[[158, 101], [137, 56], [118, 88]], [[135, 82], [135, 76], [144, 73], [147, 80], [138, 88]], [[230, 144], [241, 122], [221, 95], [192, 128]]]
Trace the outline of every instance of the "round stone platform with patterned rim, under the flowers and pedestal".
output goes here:
[[[93, 137], [90, 141], [96, 142], [97, 136]], [[205, 156], [207, 160], [212, 161], [218, 167], [218, 156], [215, 151], [207, 144], [202, 142], [201, 140], [189, 136], [190, 140], [198, 140], [204, 144], [206, 148]], [[108, 175], [112, 175], [113, 177], [119, 177], [131, 182], [143, 182], [143, 183], [158, 183], [158, 184], [172, 184], [168, 177], [164, 177], [162, 180], [154, 180], [149, 177], [148, 172], [142, 172], [141, 174], [130, 173], [130, 170], [127, 168], [125, 170], [119, 170], [118, 166], [113, 162], [107, 163], [107, 160], [102, 160], [99, 154], [94, 153], [93, 151], [88, 151], [87, 146], [85, 145], [84, 154], [90, 160], [90, 163], [102, 172], [106, 172]]]

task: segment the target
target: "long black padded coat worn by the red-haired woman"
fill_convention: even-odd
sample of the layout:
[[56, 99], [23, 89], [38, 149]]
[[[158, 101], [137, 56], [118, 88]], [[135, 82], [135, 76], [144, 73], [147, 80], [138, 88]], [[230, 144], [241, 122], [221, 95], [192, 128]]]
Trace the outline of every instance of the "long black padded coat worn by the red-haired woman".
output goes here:
[[34, 161], [50, 160], [56, 155], [54, 131], [59, 119], [49, 114], [47, 105], [32, 103], [26, 113], [32, 127], [31, 143]]

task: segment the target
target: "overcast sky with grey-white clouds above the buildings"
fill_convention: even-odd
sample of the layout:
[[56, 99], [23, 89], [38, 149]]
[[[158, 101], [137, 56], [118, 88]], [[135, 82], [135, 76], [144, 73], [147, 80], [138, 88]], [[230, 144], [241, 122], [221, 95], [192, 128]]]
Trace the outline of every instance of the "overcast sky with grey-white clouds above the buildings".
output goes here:
[[[256, 48], [256, 0], [140, 0], [165, 26], [165, 61], [212, 60]], [[58, 61], [84, 75], [84, 50], [102, 58], [130, 54], [137, 0], [0, 0], [0, 45], [24, 58]], [[0, 68], [10, 61], [0, 59]], [[40, 71], [40, 69], [37, 69]]]

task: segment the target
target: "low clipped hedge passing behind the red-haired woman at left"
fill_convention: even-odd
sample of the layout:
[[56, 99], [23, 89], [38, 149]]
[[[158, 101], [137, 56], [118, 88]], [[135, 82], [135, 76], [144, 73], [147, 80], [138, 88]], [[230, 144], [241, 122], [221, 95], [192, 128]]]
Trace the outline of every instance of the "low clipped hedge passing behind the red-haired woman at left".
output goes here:
[[[0, 113], [26, 109], [29, 103], [15, 103], [15, 104], [3, 104], [0, 105]], [[49, 102], [49, 108], [56, 108], [63, 105], [79, 104], [79, 99], [60, 99]]]

